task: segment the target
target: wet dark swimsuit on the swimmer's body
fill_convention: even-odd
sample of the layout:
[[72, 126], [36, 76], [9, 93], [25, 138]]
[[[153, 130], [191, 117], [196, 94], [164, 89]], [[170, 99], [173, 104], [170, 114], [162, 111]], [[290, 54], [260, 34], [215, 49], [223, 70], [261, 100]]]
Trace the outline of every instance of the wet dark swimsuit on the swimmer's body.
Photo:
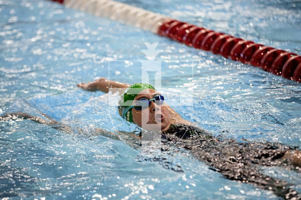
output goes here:
[[276, 180], [260, 171], [258, 166], [285, 165], [281, 158], [293, 149], [279, 143], [237, 142], [233, 139], [216, 137], [202, 128], [186, 124], [172, 124], [162, 134], [163, 142], [177, 142], [177, 145], [189, 149], [199, 160], [207, 163], [211, 169], [221, 172], [229, 179], [249, 182], [273, 192], [283, 198], [301, 196], [289, 184]]

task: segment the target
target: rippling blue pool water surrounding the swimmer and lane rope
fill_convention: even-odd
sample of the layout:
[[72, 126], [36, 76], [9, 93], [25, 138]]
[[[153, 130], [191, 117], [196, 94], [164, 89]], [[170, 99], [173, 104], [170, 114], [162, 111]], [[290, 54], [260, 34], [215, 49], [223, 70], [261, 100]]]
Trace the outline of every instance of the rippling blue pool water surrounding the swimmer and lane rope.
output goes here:
[[[299, 1], [123, 2], [301, 54]], [[175, 172], [119, 139], [94, 134], [97, 127], [127, 127], [107, 95], [76, 84], [97, 77], [139, 82], [141, 62], [114, 60], [145, 60], [143, 42], [159, 42], [158, 60], [194, 61], [193, 69], [185, 61], [162, 64], [167, 96], [168, 88], [193, 87], [186, 90], [194, 94], [193, 106], [175, 107], [184, 118], [193, 112], [191, 120], [216, 135], [300, 148], [300, 83], [45, 0], [0, 0], [0, 14], [0, 114], [44, 112], [74, 129], [66, 134], [29, 120], [0, 122], [1, 198], [277, 199], [225, 179], [187, 152], [163, 155], [184, 170]], [[300, 191], [300, 174], [262, 170]]]

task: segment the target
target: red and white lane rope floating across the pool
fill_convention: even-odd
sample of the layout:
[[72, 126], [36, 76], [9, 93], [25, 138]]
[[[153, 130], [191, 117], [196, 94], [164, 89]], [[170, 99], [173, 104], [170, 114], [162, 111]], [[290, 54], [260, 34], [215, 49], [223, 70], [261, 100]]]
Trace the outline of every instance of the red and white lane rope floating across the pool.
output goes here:
[[301, 56], [113, 0], [52, 0], [301, 82]]

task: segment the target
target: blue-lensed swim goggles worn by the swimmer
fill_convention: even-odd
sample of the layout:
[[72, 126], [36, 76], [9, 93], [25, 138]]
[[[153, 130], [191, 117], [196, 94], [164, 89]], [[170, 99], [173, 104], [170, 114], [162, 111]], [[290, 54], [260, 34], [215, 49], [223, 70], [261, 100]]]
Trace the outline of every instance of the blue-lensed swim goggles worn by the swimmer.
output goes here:
[[162, 105], [164, 103], [164, 96], [161, 94], [156, 94], [152, 99], [148, 98], [140, 98], [138, 100], [135, 100], [134, 104], [131, 106], [128, 106], [125, 108], [122, 112], [122, 118], [124, 118], [126, 112], [132, 108], [135, 108], [136, 110], [142, 110], [146, 107], [150, 106], [150, 103], [155, 102], [157, 105]]

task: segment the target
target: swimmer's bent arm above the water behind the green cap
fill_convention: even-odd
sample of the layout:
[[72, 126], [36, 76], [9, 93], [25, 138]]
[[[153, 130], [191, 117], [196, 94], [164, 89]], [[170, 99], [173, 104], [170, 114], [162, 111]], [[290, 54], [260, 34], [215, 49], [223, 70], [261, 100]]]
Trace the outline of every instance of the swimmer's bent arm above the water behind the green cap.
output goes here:
[[109, 92], [109, 88], [127, 88], [130, 84], [117, 82], [113, 80], [108, 80], [106, 78], [99, 78], [93, 82], [88, 83], [79, 83], [77, 84], [78, 87], [87, 90], [87, 91], [103, 91], [105, 93]]

